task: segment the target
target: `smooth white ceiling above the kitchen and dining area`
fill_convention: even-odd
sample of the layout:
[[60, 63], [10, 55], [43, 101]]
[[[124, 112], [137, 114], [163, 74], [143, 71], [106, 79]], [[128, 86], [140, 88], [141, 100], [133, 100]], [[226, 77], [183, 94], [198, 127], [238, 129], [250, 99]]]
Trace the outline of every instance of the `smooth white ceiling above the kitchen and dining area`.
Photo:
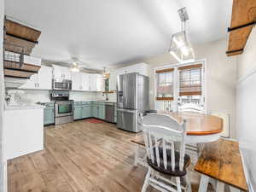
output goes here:
[[232, 0], [6, 0], [5, 14], [42, 31], [32, 55], [104, 67], [166, 53], [182, 7], [193, 44], [227, 36]]

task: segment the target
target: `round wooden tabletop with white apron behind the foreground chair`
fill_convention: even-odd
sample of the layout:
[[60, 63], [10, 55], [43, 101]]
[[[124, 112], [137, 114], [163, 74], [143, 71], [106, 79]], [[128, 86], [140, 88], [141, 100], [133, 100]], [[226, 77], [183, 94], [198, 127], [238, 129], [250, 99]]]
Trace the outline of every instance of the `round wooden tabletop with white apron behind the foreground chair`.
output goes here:
[[161, 112], [181, 123], [186, 120], [186, 143], [210, 143], [217, 141], [223, 131], [223, 119], [205, 113]]

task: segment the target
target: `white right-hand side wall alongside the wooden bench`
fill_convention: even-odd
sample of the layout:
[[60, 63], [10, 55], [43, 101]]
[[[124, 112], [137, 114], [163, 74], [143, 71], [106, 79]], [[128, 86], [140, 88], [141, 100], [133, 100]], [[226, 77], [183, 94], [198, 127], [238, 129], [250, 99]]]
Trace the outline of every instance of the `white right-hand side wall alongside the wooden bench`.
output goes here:
[[237, 60], [237, 136], [248, 175], [249, 186], [256, 189], [256, 29]]

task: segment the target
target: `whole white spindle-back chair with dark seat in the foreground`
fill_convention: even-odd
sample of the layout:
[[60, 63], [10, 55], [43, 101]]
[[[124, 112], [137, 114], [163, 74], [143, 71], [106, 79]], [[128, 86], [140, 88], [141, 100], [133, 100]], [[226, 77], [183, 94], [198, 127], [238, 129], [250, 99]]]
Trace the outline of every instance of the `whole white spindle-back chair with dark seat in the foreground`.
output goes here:
[[[160, 191], [191, 192], [187, 167], [190, 158], [185, 154], [186, 124], [177, 123], [170, 116], [160, 113], [140, 114], [144, 143], [147, 152], [148, 173], [145, 177], [142, 192], [148, 184]], [[185, 177], [187, 184], [181, 184]], [[167, 184], [169, 183], [169, 184]]]

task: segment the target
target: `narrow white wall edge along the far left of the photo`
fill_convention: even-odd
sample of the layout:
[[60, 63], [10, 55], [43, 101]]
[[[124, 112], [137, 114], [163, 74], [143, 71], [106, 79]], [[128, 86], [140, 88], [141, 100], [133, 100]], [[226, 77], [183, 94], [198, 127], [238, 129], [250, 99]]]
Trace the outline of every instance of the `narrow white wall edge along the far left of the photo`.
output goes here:
[[6, 162], [3, 162], [3, 19], [4, 19], [4, 0], [0, 1], [0, 191], [6, 191]]

